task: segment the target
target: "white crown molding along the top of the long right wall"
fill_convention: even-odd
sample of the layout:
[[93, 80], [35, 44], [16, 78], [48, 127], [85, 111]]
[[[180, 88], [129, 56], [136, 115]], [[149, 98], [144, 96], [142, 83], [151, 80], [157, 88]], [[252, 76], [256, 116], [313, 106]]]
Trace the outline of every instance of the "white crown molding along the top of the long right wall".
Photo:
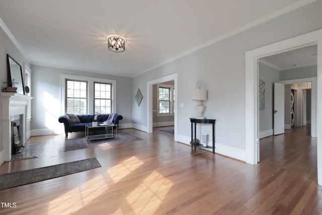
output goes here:
[[281, 15], [283, 15], [283, 14], [286, 14], [286, 13], [288, 13], [288, 12], [294, 11], [294, 10], [296, 10], [296, 9], [300, 8], [300, 7], [303, 7], [303, 6], [305, 6], [305, 5], [308, 5], [308, 4], [313, 3], [313, 2], [315, 2], [315, 1], [316, 1], [316, 0], [300, 0], [300, 1], [296, 2], [296, 3], [293, 3], [293, 4], [291, 4], [291, 5], [287, 6], [287, 7], [285, 7], [285, 8], [282, 8], [282, 9], [280, 9], [280, 10], [278, 10], [278, 11], [275, 11], [275, 12], [273, 12], [273, 13], [271, 13], [271, 14], [268, 14], [268, 15], [266, 15], [266, 16], [264, 16], [264, 17], [260, 18], [260, 19], [257, 19], [257, 20], [255, 20], [255, 21], [253, 21], [253, 22], [250, 22], [250, 23], [248, 23], [248, 24], [246, 24], [246, 25], [243, 25], [243, 26], [241, 26], [241, 27], [239, 27], [239, 28], [236, 28], [236, 29], [234, 29], [234, 30], [232, 30], [232, 31], [230, 31], [230, 32], [228, 32], [228, 33], [226, 33], [226, 34], [223, 34], [223, 35], [221, 35], [221, 36], [219, 36], [219, 37], [216, 37], [216, 38], [214, 38], [214, 39], [212, 39], [212, 40], [210, 40], [210, 41], [208, 41], [208, 42], [206, 42], [206, 43], [203, 43], [203, 44], [201, 44], [201, 45], [199, 45], [199, 46], [196, 46], [195, 48], [190, 49], [190, 50], [188, 50], [188, 51], [186, 51], [186, 52], [183, 52], [183, 53], [181, 53], [181, 54], [179, 54], [179, 55], [177, 55], [177, 56], [175, 56], [175, 57], [173, 57], [173, 58], [170, 58], [170, 59], [168, 59], [167, 61], [164, 61], [164, 62], [162, 62], [162, 63], [158, 63], [158, 64], [156, 64], [156, 65], [154, 65], [154, 66], [152, 66], [152, 67], [150, 67], [150, 68], [148, 68], [148, 69], [145, 69], [145, 70], [141, 71], [140, 73], [138, 73], [138, 74], [134, 75], [133, 77], [136, 77], [136, 76], [142, 75], [142, 74], [146, 73], [146, 72], [147, 72], [147, 71], [149, 71], [149, 70], [152, 70], [152, 69], [157, 68], [157, 67], [159, 67], [159, 66], [165, 65], [165, 64], [167, 64], [167, 63], [169, 63], [169, 62], [172, 62], [172, 61], [174, 61], [174, 60], [176, 60], [176, 59], [179, 59], [179, 58], [181, 58], [181, 57], [183, 57], [183, 56], [185, 56], [185, 55], [188, 55], [188, 54], [190, 54], [190, 53], [192, 53], [192, 52], [195, 52], [195, 51], [197, 51], [197, 50], [199, 50], [199, 49], [205, 48], [205, 47], [207, 47], [207, 46], [209, 46], [209, 45], [212, 45], [212, 44], [214, 44], [214, 43], [216, 43], [216, 42], [219, 42], [219, 41], [221, 41], [221, 40], [223, 40], [223, 39], [226, 39], [226, 38], [228, 38], [228, 37], [230, 37], [230, 36], [233, 36], [233, 35], [238, 34], [238, 33], [240, 33], [240, 32], [246, 31], [246, 30], [248, 30], [248, 29], [250, 29], [250, 28], [252, 28], [252, 27], [255, 27], [255, 26], [257, 26], [257, 25], [260, 25], [260, 24], [262, 24], [262, 23], [264, 23], [264, 22], [267, 22], [267, 21], [269, 21], [269, 20], [272, 20], [272, 19], [274, 19], [274, 18], [276, 18], [276, 17], [279, 17], [279, 16], [281, 16]]

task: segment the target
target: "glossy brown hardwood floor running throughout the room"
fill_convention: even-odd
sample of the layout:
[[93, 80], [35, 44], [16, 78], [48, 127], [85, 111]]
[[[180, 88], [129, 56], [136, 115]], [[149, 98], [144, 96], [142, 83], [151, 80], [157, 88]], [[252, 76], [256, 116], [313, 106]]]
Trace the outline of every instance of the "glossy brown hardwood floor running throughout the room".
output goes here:
[[315, 138], [263, 138], [260, 164], [249, 165], [194, 153], [159, 130], [122, 129], [143, 140], [69, 152], [64, 135], [30, 138], [45, 142], [39, 158], [5, 163], [0, 174], [91, 157], [102, 167], [0, 190], [1, 202], [17, 205], [0, 214], [322, 214]]

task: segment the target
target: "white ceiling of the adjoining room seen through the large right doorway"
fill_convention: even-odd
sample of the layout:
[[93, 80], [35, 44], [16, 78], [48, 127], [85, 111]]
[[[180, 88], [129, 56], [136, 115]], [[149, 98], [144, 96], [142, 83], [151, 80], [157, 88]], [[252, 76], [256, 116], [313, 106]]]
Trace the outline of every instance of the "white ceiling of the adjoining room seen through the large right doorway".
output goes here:
[[297, 68], [317, 64], [317, 46], [306, 46], [291, 51], [263, 57], [260, 60], [277, 70]]

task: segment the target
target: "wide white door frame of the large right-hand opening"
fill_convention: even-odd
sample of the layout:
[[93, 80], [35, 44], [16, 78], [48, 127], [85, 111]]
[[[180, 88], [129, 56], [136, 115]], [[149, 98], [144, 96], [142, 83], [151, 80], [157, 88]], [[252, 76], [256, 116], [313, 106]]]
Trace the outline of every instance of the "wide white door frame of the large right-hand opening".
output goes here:
[[[258, 83], [257, 62], [259, 58], [270, 56], [293, 49], [317, 45], [317, 92], [322, 90], [322, 29], [256, 48], [246, 55], [246, 130], [245, 130], [245, 161], [257, 164], [257, 145], [259, 144], [258, 121]], [[322, 94], [317, 97], [316, 120], [322, 122]], [[322, 123], [319, 123], [322, 126]], [[317, 123], [318, 126], [318, 123]], [[322, 185], [322, 129], [317, 130], [317, 182]]]

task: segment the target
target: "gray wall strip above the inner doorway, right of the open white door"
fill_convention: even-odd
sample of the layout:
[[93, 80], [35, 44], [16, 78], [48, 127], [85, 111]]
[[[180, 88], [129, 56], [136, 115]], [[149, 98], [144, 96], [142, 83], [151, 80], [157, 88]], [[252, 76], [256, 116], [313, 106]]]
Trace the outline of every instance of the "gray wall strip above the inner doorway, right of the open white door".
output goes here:
[[317, 77], [317, 65], [291, 68], [280, 71], [280, 81]]

